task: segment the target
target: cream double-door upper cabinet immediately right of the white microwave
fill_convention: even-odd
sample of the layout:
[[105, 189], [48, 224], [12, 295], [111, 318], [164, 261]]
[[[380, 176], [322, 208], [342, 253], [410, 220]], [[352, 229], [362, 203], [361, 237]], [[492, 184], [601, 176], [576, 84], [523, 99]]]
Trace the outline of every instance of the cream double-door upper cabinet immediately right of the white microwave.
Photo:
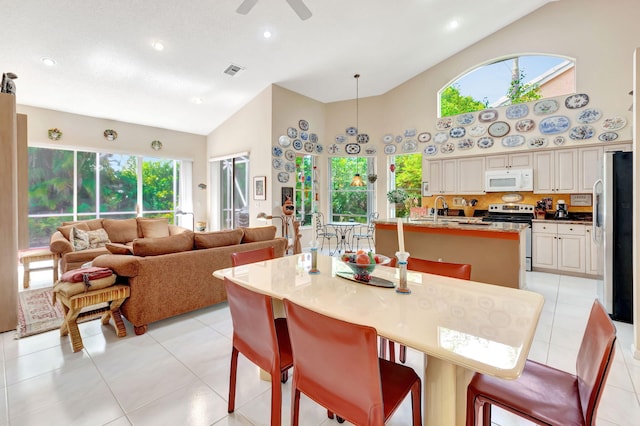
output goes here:
[[578, 150], [572, 148], [533, 153], [533, 192], [578, 192]]

